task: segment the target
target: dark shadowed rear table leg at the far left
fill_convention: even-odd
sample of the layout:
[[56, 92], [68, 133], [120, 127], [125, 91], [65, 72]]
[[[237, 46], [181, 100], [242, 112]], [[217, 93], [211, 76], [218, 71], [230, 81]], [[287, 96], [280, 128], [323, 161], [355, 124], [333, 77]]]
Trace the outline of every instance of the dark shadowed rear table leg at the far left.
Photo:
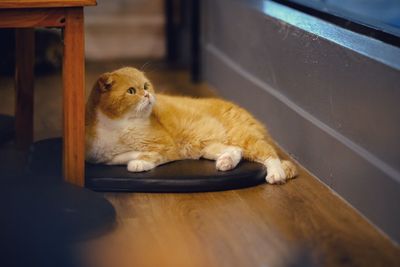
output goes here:
[[34, 29], [15, 30], [15, 142], [28, 148], [33, 141]]

